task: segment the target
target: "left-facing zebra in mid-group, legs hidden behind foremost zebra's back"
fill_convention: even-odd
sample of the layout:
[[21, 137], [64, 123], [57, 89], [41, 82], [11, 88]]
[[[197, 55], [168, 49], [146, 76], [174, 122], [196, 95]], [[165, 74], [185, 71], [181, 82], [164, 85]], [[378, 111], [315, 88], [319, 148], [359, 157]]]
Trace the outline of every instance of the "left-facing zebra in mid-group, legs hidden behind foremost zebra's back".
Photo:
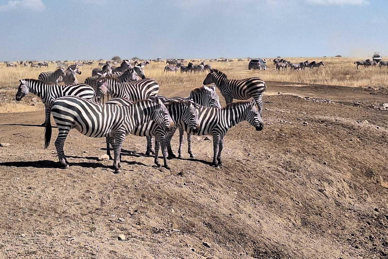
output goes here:
[[124, 98], [138, 101], [155, 96], [159, 93], [159, 84], [155, 79], [143, 79], [137, 82], [120, 82], [114, 77], [100, 79], [100, 87], [97, 92], [97, 101], [109, 93], [112, 98]]

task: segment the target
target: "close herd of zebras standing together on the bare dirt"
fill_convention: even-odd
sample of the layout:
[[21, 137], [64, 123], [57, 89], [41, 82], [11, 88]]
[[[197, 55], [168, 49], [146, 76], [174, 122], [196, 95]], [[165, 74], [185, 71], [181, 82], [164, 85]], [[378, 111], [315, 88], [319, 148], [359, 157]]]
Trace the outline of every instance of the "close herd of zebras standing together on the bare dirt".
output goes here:
[[[127, 61], [123, 61], [127, 63]], [[203, 66], [203, 64], [200, 64]], [[222, 164], [221, 154], [224, 137], [230, 127], [241, 121], [248, 121], [257, 131], [264, 127], [262, 120], [262, 97], [266, 90], [265, 82], [258, 78], [229, 79], [226, 74], [210, 69], [203, 86], [191, 90], [188, 97], [163, 97], [159, 94], [159, 83], [155, 79], [137, 78], [123, 82], [120, 79], [133, 68], [127, 63], [126, 70], [109, 67], [86, 78], [85, 83], [67, 81], [71, 75], [81, 73], [78, 65], [66, 70], [58, 68], [54, 72], [41, 73], [39, 80], [21, 79], [15, 99], [20, 101], [28, 93], [37, 95], [45, 106], [44, 147], [50, 145], [52, 137], [51, 116], [58, 126], [55, 141], [61, 168], [69, 163], [64, 153], [64, 144], [72, 128], [92, 138], [106, 138], [107, 155], [112, 159], [115, 173], [121, 171], [120, 152], [124, 139], [132, 134], [147, 137], [146, 155], [154, 154], [154, 162], [159, 163], [159, 149], [162, 150], [164, 166], [170, 168], [168, 158], [176, 157], [172, 151], [171, 139], [179, 130], [178, 156], [182, 155], [184, 132], [187, 133], [188, 153], [192, 153], [192, 135], [213, 136], [213, 166]], [[204, 66], [202, 70], [204, 70]], [[111, 74], [108, 74], [111, 73]], [[117, 76], [115, 73], [122, 73]], [[136, 73], [132, 71], [131, 73]], [[143, 74], [142, 74], [143, 75]], [[65, 85], [58, 85], [59, 82]], [[69, 82], [70, 84], [66, 84]], [[211, 87], [207, 85], [212, 84]], [[221, 107], [216, 87], [225, 98], [226, 106]], [[102, 97], [110, 94], [111, 100], [103, 103]], [[232, 103], [233, 100], [251, 102]], [[256, 108], [257, 107], [257, 108]], [[155, 144], [154, 144], [155, 141]]]

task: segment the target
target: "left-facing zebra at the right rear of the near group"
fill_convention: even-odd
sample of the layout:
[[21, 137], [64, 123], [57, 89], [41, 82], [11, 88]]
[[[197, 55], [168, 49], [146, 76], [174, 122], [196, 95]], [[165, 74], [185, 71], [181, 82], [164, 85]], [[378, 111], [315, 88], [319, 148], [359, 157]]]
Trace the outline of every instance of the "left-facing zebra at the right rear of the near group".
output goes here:
[[228, 79], [226, 74], [218, 69], [211, 69], [206, 76], [203, 84], [215, 83], [225, 98], [226, 104], [236, 100], [248, 100], [253, 98], [256, 101], [260, 116], [263, 110], [263, 94], [267, 85], [259, 77], [250, 77], [245, 79]]

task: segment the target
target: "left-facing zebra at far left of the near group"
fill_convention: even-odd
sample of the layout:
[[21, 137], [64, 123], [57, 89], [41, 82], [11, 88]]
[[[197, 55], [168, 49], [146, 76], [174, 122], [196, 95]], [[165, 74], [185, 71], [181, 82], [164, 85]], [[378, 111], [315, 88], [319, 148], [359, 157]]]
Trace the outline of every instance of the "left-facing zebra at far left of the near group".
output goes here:
[[16, 101], [22, 100], [28, 93], [34, 94], [42, 99], [45, 109], [44, 125], [50, 121], [51, 106], [57, 98], [64, 96], [78, 96], [83, 99], [94, 99], [94, 91], [87, 84], [71, 84], [71, 85], [56, 85], [45, 84], [40, 80], [21, 79], [18, 92], [16, 93]]

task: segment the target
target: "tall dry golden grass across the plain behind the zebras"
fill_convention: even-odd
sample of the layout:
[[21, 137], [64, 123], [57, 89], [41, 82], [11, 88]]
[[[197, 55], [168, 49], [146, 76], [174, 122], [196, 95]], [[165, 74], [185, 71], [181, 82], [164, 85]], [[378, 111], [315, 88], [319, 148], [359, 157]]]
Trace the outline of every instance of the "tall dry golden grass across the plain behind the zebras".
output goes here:
[[[246, 78], [259, 76], [266, 81], [282, 81], [295, 83], [315, 83], [326, 85], [343, 85], [349, 87], [370, 87], [376, 89], [388, 89], [388, 69], [383, 67], [372, 67], [356, 69], [354, 58], [287, 58], [291, 62], [323, 61], [325, 65], [319, 70], [309, 71], [287, 71], [276, 72], [272, 62], [267, 62], [268, 69], [266, 71], [248, 70], [248, 61], [238, 62], [214, 62], [211, 63], [213, 68], [220, 69], [225, 72], [229, 78]], [[71, 62], [69, 64], [72, 64]], [[165, 62], [151, 63], [144, 68], [144, 73], [149, 78], [156, 79], [161, 85], [161, 92], [168, 95], [169, 89], [195, 88], [202, 85], [206, 73], [189, 74], [178, 72], [164, 72]], [[83, 82], [86, 77], [91, 75], [91, 70], [98, 67], [98, 62], [93, 65], [82, 66], [80, 70], [82, 74], [77, 76], [79, 82]], [[37, 78], [40, 72], [54, 71], [55, 64], [50, 64], [49, 67], [30, 68], [18, 66], [16, 68], [6, 67], [5, 64], [0, 64], [0, 89], [10, 88], [16, 89], [19, 86], [19, 79], [22, 78]], [[163, 90], [163, 91], [162, 91]], [[15, 92], [16, 93], [16, 92]], [[12, 105], [5, 104], [0, 106], [0, 112], [13, 111]], [[17, 105], [14, 106], [17, 111]]]

